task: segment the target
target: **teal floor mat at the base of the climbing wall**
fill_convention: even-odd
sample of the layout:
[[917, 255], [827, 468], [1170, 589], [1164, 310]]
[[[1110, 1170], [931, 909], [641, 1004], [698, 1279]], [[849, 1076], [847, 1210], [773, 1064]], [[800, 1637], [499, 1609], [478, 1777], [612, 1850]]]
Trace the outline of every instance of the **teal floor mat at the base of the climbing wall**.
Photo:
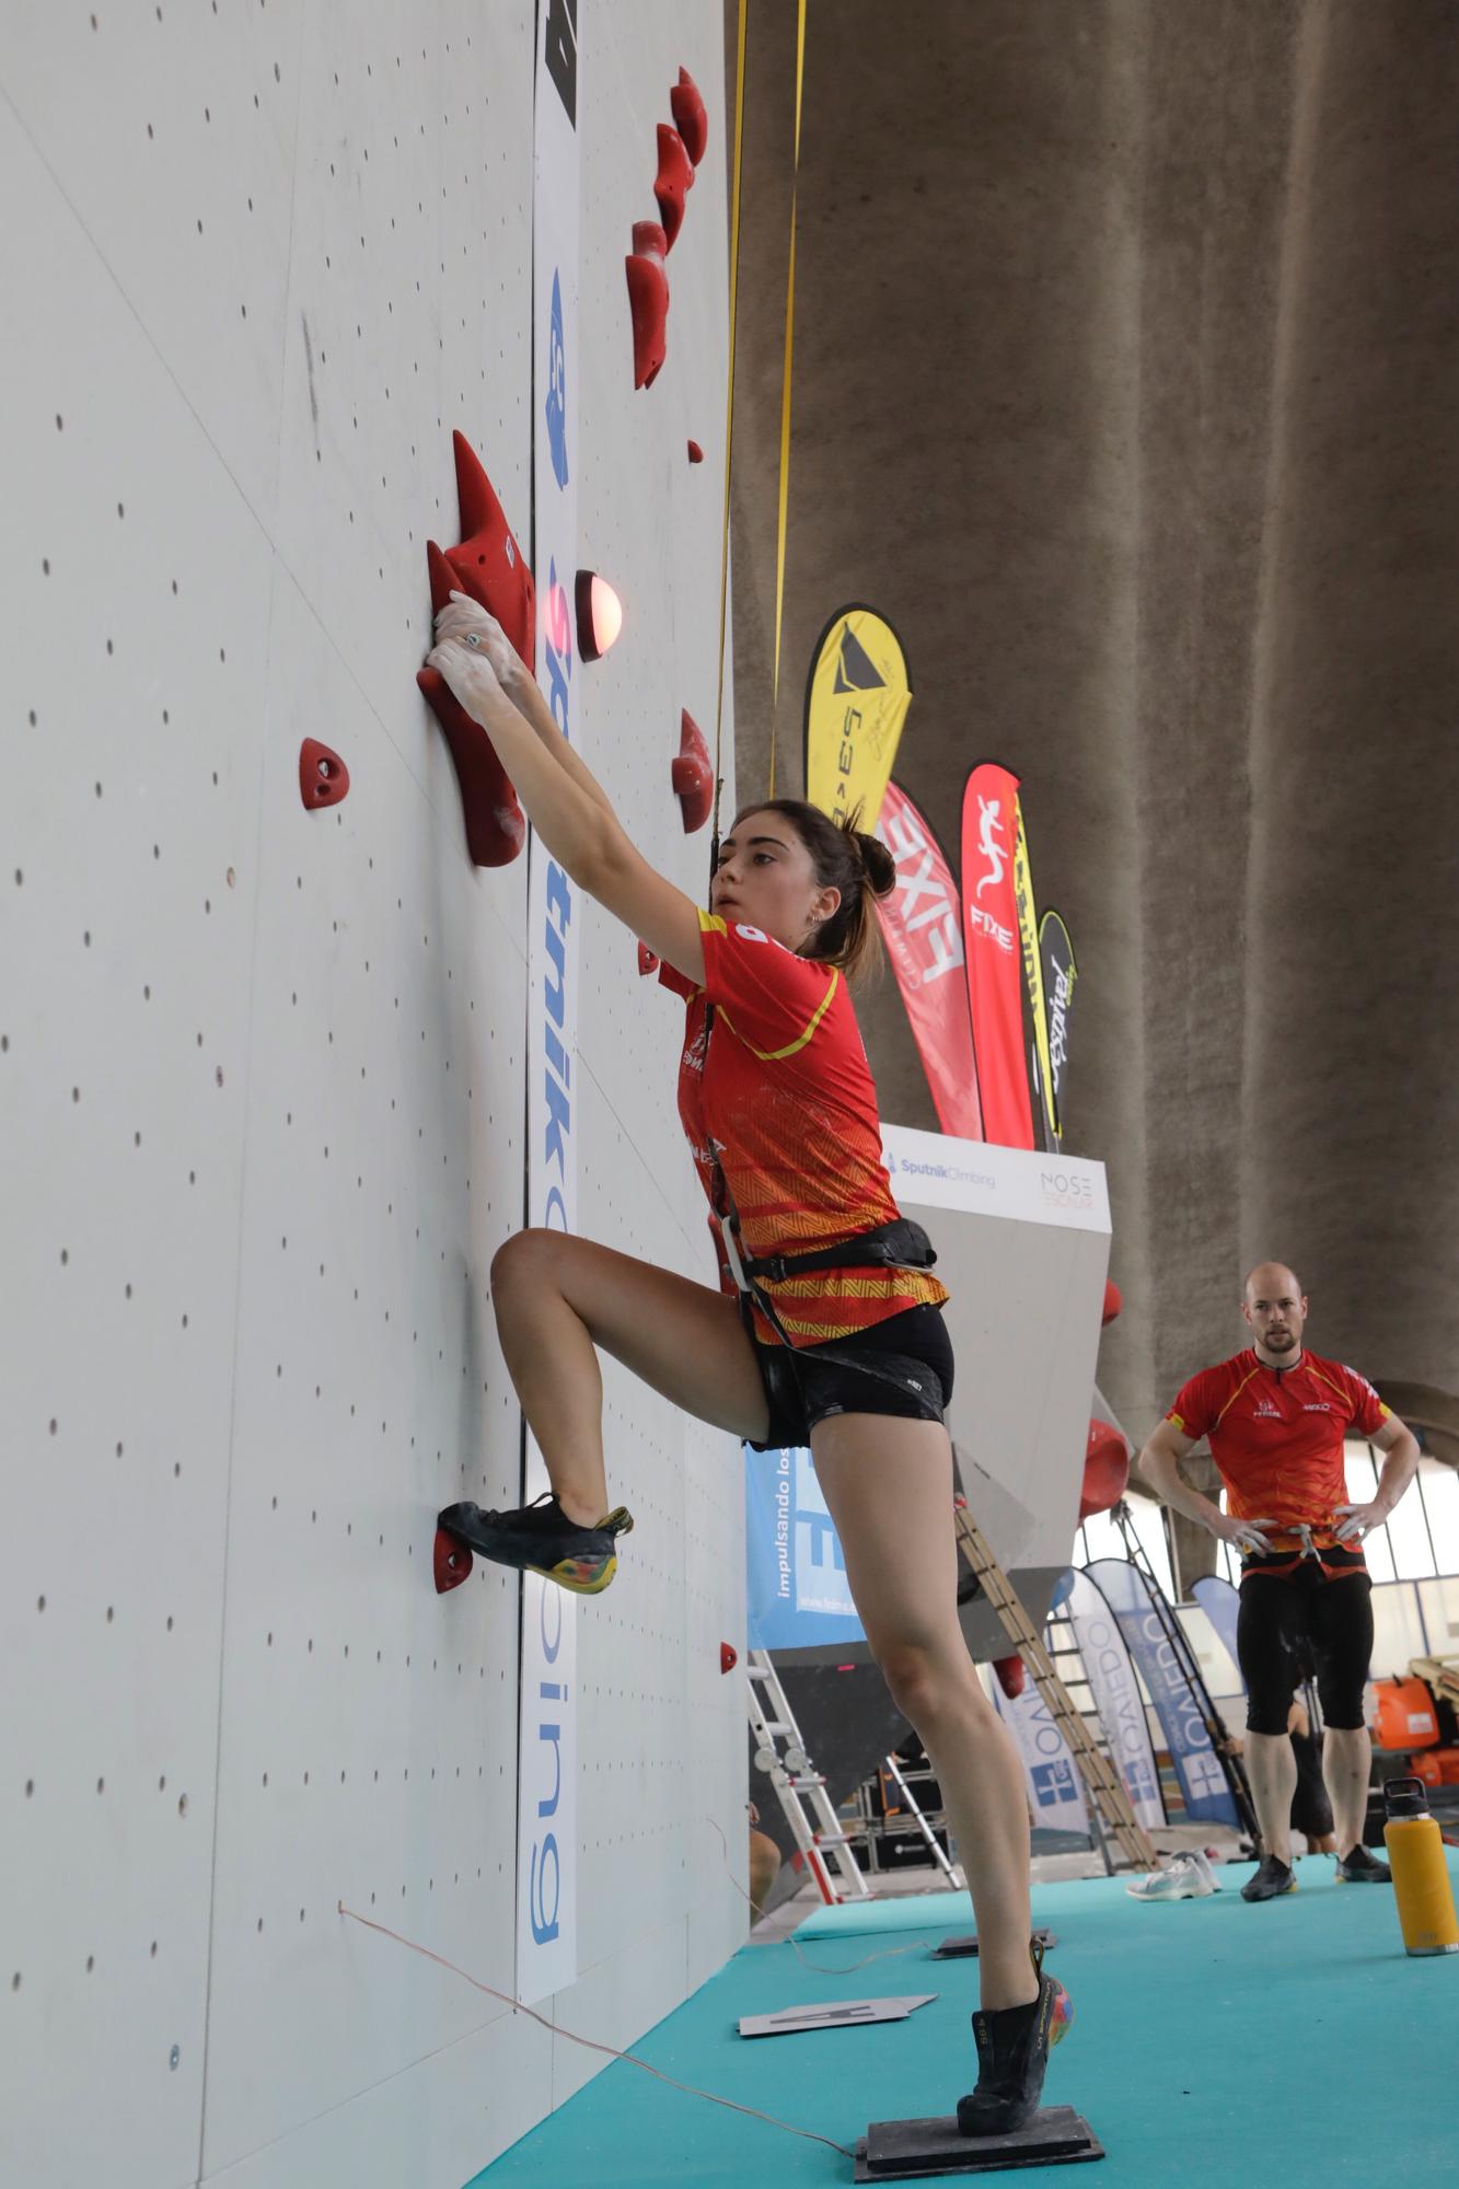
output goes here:
[[[1459, 1856], [1450, 1852], [1450, 1874]], [[1299, 1891], [1249, 1907], [1251, 1865], [1209, 1900], [1141, 1904], [1119, 1878], [1045, 1885], [1034, 1922], [1058, 1933], [1052, 1968], [1076, 2023], [1045, 2097], [1076, 2106], [1122, 2189], [1330, 2189], [1459, 2178], [1459, 1955], [1402, 1950], [1389, 1887], [1336, 1885], [1332, 1861], [1297, 1863]], [[841, 1931], [802, 1953], [743, 1948], [635, 2051], [679, 2082], [852, 2145], [872, 2119], [951, 2112], [975, 2080], [975, 1961], [931, 1961], [970, 1931], [962, 1896], [883, 1902], [907, 1931]], [[857, 1915], [843, 1918], [854, 1922]], [[914, 1950], [852, 1968], [868, 1950]], [[935, 1992], [905, 2023], [745, 2040], [740, 2014], [813, 1999]], [[613, 2062], [478, 2180], [572, 2189], [797, 2189], [850, 2182], [852, 2163], [765, 2121], [725, 2112]], [[946, 2176], [942, 2176], [946, 2178]], [[1034, 2189], [1062, 2167], [1030, 2167]]]

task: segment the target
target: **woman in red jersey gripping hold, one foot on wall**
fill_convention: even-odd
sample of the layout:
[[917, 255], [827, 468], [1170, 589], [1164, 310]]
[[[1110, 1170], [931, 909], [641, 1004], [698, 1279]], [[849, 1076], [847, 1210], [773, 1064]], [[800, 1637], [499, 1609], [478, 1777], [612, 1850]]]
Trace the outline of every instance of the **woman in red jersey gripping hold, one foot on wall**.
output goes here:
[[946, 1289], [892, 1200], [846, 989], [876, 948], [892, 856], [813, 806], [751, 803], [701, 911], [635, 852], [502, 626], [462, 593], [436, 617], [429, 665], [559, 867], [686, 998], [679, 1116], [721, 1241], [719, 1289], [559, 1230], [502, 1246], [502, 1351], [552, 1491], [513, 1513], [449, 1506], [440, 1526], [567, 1589], [611, 1583], [633, 1524], [607, 1504], [596, 1346], [716, 1429], [811, 1447], [857, 1613], [933, 1760], [973, 1893], [979, 2075], [957, 2115], [966, 2134], [1010, 2134], [1038, 2108], [1071, 2005], [1030, 1944], [1023, 1771], [957, 1624]]

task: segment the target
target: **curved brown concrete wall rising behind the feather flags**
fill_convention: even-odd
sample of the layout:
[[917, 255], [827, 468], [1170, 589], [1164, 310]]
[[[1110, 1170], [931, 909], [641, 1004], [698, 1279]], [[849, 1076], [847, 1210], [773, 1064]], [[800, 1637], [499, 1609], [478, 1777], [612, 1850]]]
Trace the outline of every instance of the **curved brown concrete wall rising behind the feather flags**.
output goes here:
[[[725, 13], [730, 85], [734, 15]], [[778, 788], [883, 609], [898, 779], [1023, 777], [1080, 963], [1139, 1440], [1301, 1274], [1314, 1351], [1459, 1425], [1459, 7], [811, 0]], [[791, 0], [751, 0], [734, 615], [771, 749]], [[935, 1130], [887, 974], [885, 1116]]]

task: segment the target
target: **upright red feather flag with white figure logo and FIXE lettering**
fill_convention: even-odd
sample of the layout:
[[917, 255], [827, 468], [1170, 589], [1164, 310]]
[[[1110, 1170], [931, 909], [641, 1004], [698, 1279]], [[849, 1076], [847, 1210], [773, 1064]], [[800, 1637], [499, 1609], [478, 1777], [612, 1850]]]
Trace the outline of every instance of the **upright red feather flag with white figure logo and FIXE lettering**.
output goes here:
[[1032, 1149], [1012, 878], [1016, 803], [1016, 775], [990, 760], [973, 768], [962, 795], [962, 933], [984, 1138]]

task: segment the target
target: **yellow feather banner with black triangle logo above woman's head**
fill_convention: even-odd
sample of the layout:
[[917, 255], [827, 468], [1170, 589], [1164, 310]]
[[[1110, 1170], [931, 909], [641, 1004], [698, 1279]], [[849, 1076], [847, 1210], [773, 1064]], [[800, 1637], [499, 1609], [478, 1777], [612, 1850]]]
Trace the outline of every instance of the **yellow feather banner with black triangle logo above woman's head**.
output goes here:
[[911, 705], [907, 655], [885, 615], [837, 609], [806, 683], [806, 799], [832, 821], [861, 808], [874, 830]]

